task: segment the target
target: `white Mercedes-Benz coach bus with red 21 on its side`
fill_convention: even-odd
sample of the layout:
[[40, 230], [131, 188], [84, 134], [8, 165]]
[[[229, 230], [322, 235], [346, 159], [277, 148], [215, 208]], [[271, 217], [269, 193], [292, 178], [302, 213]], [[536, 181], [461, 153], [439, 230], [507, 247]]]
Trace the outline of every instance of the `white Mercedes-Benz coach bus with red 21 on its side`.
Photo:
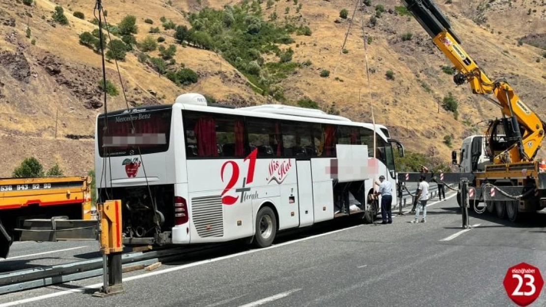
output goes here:
[[109, 112], [97, 117], [98, 200], [122, 200], [127, 245], [265, 247], [289, 228], [353, 214], [373, 221], [373, 181], [383, 174], [396, 186], [391, 144], [376, 128], [373, 159], [372, 124], [319, 110], [209, 106], [183, 94]]

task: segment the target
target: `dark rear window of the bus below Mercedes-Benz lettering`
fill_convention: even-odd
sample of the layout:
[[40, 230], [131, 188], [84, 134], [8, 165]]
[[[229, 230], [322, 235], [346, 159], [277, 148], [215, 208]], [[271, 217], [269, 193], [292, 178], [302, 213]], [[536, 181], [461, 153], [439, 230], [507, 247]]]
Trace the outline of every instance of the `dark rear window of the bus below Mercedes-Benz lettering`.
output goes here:
[[123, 156], [165, 152], [169, 149], [172, 109], [139, 110], [97, 120], [99, 155]]

